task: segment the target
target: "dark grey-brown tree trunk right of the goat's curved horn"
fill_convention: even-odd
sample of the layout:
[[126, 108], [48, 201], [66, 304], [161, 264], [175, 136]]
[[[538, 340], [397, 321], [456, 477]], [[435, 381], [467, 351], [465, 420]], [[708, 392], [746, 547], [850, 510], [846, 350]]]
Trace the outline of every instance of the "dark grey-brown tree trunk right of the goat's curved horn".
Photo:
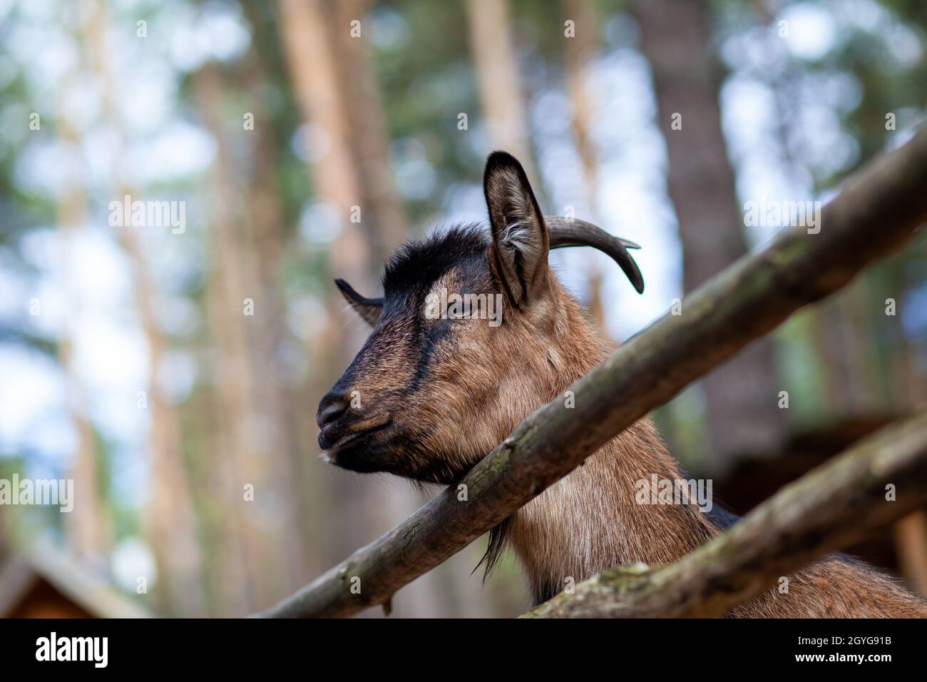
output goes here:
[[[667, 182], [679, 220], [683, 289], [688, 292], [746, 252], [721, 133], [711, 15], [701, 0], [647, 0], [636, 7], [667, 140]], [[681, 115], [675, 119], [681, 122], [679, 130], [672, 129], [675, 114]], [[780, 449], [785, 420], [769, 340], [757, 341], [718, 367], [702, 386], [713, 443], [708, 470], [724, 470], [736, 457]]]

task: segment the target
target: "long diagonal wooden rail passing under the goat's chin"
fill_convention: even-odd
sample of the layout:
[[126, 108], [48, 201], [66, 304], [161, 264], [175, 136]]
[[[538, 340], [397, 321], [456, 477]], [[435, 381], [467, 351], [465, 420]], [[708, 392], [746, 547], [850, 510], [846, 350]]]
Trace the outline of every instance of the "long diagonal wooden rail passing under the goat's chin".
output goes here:
[[817, 234], [783, 231], [694, 291], [681, 315], [657, 320], [570, 386], [572, 409], [558, 398], [523, 421], [461, 481], [468, 501], [451, 486], [262, 615], [346, 616], [386, 602], [692, 380], [894, 251], [924, 220], [927, 131], [858, 174], [824, 207]]

